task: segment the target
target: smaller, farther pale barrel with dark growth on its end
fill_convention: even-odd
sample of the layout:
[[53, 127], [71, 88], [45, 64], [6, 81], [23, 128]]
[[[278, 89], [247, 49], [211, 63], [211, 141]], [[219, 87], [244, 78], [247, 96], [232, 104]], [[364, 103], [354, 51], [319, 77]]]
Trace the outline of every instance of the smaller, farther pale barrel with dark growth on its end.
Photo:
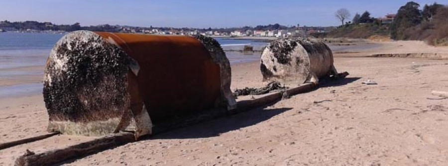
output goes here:
[[261, 55], [263, 80], [300, 85], [336, 74], [330, 48], [309, 39], [279, 39], [271, 42]]

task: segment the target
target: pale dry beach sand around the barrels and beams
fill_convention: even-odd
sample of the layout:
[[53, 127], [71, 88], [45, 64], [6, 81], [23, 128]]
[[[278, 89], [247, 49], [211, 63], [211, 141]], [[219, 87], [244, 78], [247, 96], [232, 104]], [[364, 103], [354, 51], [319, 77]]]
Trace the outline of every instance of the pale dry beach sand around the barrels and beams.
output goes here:
[[[420, 42], [383, 42], [355, 56], [403, 51], [448, 53]], [[402, 46], [400, 46], [402, 45]], [[398, 49], [397, 49], [398, 48]], [[409, 51], [413, 51], [409, 50]], [[159, 134], [68, 163], [73, 166], [446, 166], [448, 60], [336, 54], [350, 75], [309, 93]], [[371, 79], [378, 85], [363, 85]], [[232, 90], [259, 87], [259, 63], [232, 66]], [[41, 95], [0, 100], [0, 142], [45, 133]], [[0, 166], [25, 149], [43, 151], [91, 140], [55, 136], [0, 150]]]

